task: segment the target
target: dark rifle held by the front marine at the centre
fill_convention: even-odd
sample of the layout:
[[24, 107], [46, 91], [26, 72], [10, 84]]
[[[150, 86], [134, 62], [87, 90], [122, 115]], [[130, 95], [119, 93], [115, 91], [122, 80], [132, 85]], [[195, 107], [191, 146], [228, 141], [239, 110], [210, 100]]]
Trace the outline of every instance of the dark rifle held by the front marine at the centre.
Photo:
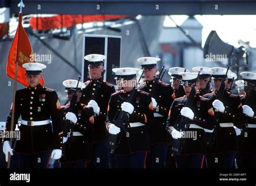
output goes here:
[[[126, 102], [131, 103], [131, 101], [133, 100], [134, 96], [136, 95], [137, 89], [136, 87], [134, 87], [131, 91], [131, 94], [129, 96], [129, 98], [127, 99]], [[114, 150], [119, 146], [120, 144], [120, 139], [123, 136], [123, 133], [127, 133], [128, 130], [126, 128], [126, 121], [129, 118], [129, 113], [125, 112], [125, 111], [121, 111], [118, 115], [118, 118], [116, 121], [114, 121], [114, 125], [116, 125], [117, 127], [119, 127], [122, 131], [121, 133], [114, 135], [114, 134], [110, 134], [109, 136], [109, 140], [107, 140], [106, 143], [106, 147], [111, 149], [111, 154], [113, 154]]]

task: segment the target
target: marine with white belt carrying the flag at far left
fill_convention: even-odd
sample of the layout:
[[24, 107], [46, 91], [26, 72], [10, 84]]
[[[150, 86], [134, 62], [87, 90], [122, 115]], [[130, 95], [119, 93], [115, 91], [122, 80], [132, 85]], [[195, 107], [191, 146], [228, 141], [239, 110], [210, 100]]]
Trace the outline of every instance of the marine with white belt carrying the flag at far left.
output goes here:
[[[62, 120], [58, 95], [53, 89], [39, 84], [45, 65], [25, 63], [29, 87], [16, 92], [14, 124], [21, 116], [21, 139], [16, 141], [14, 151], [19, 155], [21, 168], [48, 168], [50, 157], [62, 155]], [[52, 124], [50, 123], [52, 121]], [[6, 121], [6, 132], [10, 132], [11, 113]], [[5, 137], [3, 151], [8, 161], [12, 154], [9, 138]]]

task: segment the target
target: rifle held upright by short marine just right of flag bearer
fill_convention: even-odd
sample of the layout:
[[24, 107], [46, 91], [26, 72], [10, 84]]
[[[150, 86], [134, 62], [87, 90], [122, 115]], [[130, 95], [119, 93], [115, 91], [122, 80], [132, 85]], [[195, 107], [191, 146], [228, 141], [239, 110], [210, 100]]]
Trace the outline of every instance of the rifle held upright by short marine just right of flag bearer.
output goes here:
[[[78, 77], [78, 81], [77, 81], [77, 86], [75, 89], [71, 88], [71, 91], [74, 93], [72, 95], [71, 101], [70, 101], [70, 105], [68, 108], [68, 112], [74, 112], [75, 109], [75, 105], [76, 105], [76, 101], [77, 101], [77, 90], [78, 90], [78, 85], [79, 85], [79, 81], [80, 81], [81, 77], [79, 75]], [[72, 123], [72, 121], [70, 120], [63, 120], [64, 126], [63, 126], [63, 136], [64, 137], [70, 137], [70, 141], [73, 142], [72, 136], [70, 135], [70, 133], [73, 130], [74, 124]], [[64, 150], [63, 150], [63, 159], [66, 160], [67, 159], [67, 155], [68, 155], [68, 146], [70, 146], [69, 141], [66, 141], [66, 143], [64, 144]]]

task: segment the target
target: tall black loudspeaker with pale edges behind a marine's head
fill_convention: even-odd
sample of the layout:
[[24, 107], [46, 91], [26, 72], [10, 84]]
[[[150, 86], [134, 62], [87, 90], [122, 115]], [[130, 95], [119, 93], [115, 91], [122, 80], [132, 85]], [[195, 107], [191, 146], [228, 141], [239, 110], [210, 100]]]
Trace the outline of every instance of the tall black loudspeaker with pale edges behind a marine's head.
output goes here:
[[90, 78], [88, 71], [88, 62], [84, 57], [88, 54], [102, 54], [107, 58], [104, 60], [104, 80], [115, 84], [112, 68], [120, 67], [121, 58], [121, 36], [107, 35], [83, 35], [83, 63], [82, 63], [82, 81]]

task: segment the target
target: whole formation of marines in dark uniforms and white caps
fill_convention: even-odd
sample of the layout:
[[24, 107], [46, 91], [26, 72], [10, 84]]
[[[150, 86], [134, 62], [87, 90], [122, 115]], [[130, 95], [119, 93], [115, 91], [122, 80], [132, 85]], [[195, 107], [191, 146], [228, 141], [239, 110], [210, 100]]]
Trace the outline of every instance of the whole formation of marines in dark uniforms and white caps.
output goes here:
[[[21, 168], [256, 168], [256, 74], [229, 67], [169, 69], [161, 81], [159, 58], [142, 57], [138, 68], [113, 68], [115, 87], [103, 80], [106, 56], [85, 56], [90, 79], [63, 81], [68, 104], [40, 84], [45, 65], [26, 63], [29, 86], [16, 92], [14, 116], [21, 139], [3, 152]], [[238, 94], [232, 87], [238, 86]], [[12, 107], [11, 107], [12, 109]]]

